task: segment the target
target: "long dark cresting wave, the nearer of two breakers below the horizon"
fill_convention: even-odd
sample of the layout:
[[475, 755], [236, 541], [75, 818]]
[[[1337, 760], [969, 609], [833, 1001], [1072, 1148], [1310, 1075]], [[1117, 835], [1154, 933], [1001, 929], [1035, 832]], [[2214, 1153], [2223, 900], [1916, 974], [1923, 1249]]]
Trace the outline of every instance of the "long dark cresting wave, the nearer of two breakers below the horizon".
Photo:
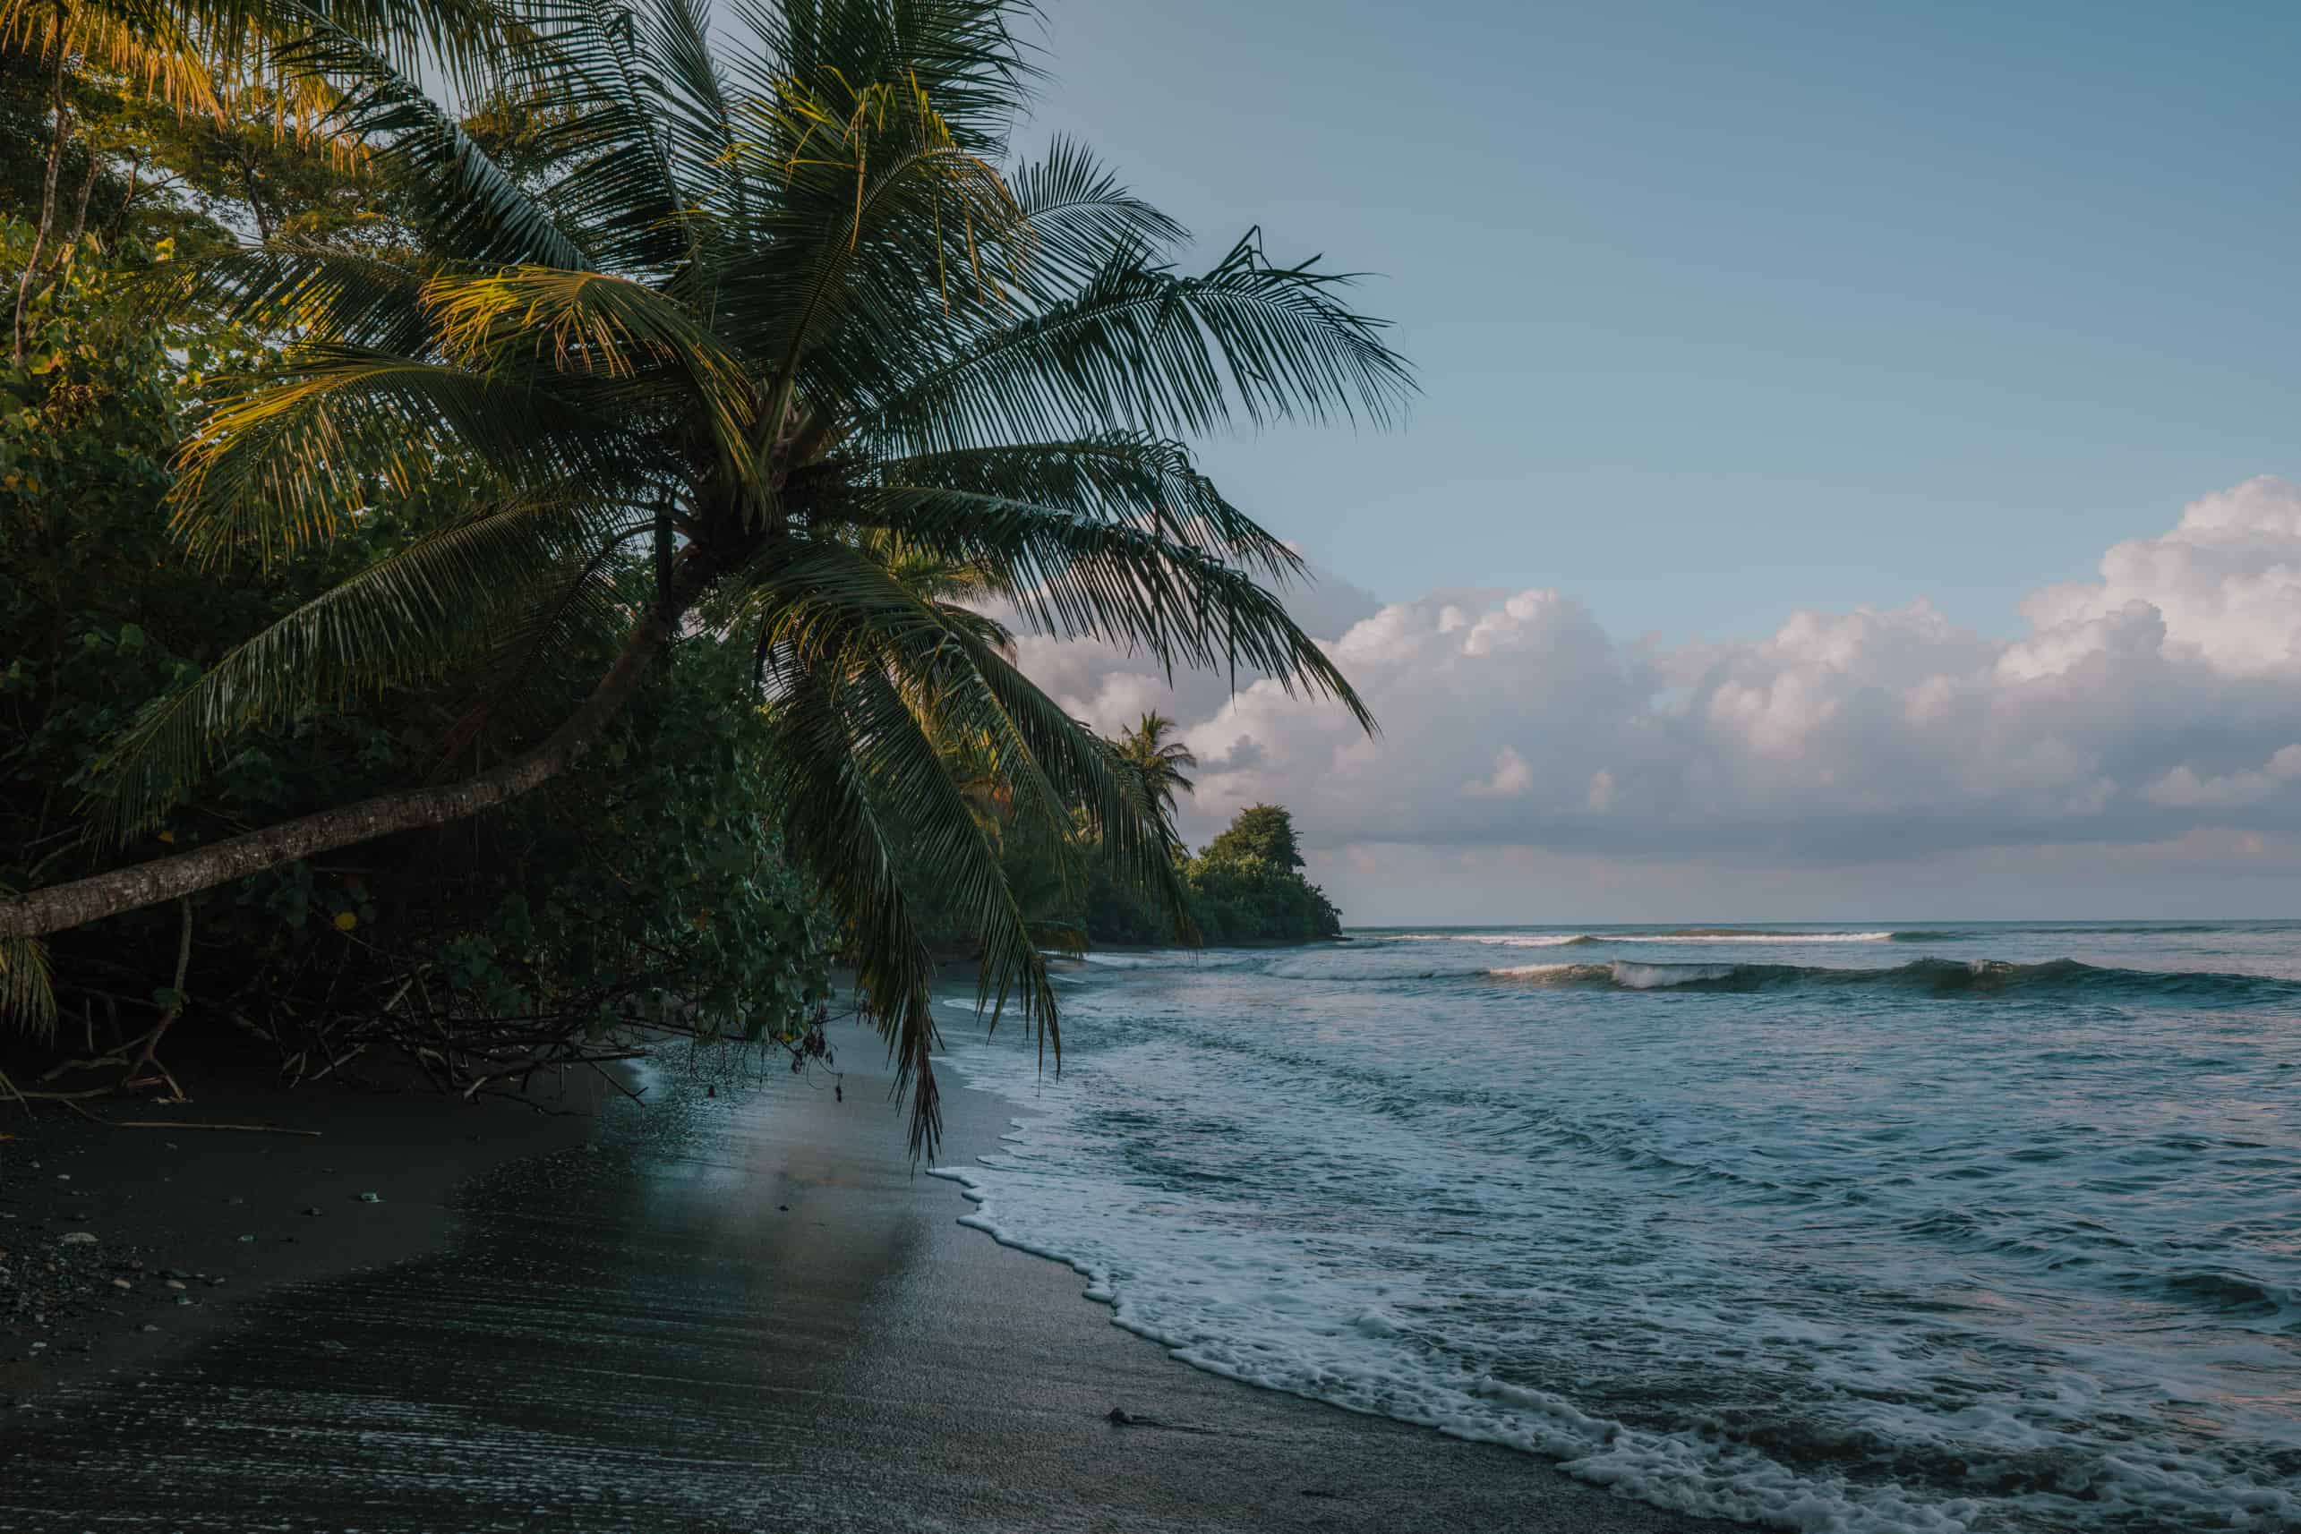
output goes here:
[[1848, 987], [1912, 991], [1919, 996], [2099, 996], [2115, 1000], [2301, 1003], [2301, 982], [2271, 975], [2211, 971], [2128, 971], [2048, 959], [1912, 959], [1894, 968], [1832, 968], [1813, 964], [1521, 964], [1484, 971], [1491, 980], [1592, 984], [1625, 991], [1769, 991]]

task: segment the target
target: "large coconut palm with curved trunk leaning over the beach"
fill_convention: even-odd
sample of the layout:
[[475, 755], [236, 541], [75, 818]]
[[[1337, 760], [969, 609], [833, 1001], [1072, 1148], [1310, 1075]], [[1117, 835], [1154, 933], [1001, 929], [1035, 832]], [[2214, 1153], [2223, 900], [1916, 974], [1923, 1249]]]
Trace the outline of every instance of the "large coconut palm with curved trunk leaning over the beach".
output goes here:
[[[295, 345], [184, 453], [175, 520], [205, 557], [276, 559], [433, 476], [488, 511], [357, 573], [145, 718], [101, 793], [133, 839], [223, 743], [313, 699], [465, 676], [492, 690], [460, 782], [341, 805], [0, 902], [0, 943], [377, 835], [476, 814], [561, 773], [690, 626], [755, 646], [778, 766], [759, 784], [844, 918], [863, 996], [939, 1115], [932, 964], [888, 823], [985, 934], [980, 1000], [1061, 1046], [1054, 996], [937, 741], [985, 734], [1031, 814], [1084, 805], [1180, 911], [1169, 835], [1107, 747], [994, 635], [897, 580], [874, 540], [992, 573], [1024, 621], [1162, 667], [1254, 667], [1371, 727], [1272, 586], [1277, 538], [1183, 435], [1236, 419], [1390, 421], [1411, 391], [1346, 276], [1259, 235], [1183, 274], [1183, 230], [1086, 149], [1001, 172], [1033, 64], [1026, 0], [746, 0], [713, 55], [700, 0], [511, 0], [490, 101], [543, 108], [499, 168], [412, 71], [311, 0], [276, 53], [338, 92], [430, 209], [407, 260], [269, 244], [191, 276]], [[651, 550], [653, 596], [607, 570]], [[555, 667], [614, 660], [557, 720]], [[465, 754], [463, 759], [469, 759]], [[693, 828], [688, 835], [700, 835]], [[996, 1012], [994, 1012], [996, 1017]]]

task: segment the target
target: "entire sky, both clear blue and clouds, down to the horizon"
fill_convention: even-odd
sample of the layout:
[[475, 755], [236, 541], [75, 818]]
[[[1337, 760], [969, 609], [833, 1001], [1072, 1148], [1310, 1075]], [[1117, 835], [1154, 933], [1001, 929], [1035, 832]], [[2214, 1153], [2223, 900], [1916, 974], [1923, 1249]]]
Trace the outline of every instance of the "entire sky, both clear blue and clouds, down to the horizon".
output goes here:
[[[1033, 133], [1367, 271], [1404, 428], [1203, 462], [1383, 720], [1033, 642], [1346, 920], [2301, 908], [2301, 14], [1049, 5]], [[2266, 478], [2264, 478], [2266, 476]], [[2296, 747], [2289, 757], [2280, 757]]]

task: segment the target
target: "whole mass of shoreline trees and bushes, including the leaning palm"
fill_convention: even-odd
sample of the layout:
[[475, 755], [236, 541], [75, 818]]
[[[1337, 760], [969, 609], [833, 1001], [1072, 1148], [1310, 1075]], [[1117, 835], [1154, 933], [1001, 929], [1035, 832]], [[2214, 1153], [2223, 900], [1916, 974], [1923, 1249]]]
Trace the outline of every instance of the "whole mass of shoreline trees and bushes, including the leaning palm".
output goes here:
[[[483, 1090], [630, 1019], [789, 1037], [835, 954], [925, 1148], [930, 918], [1058, 1049], [1093, 881], [1222, 936], [1300, 879], [1266, 839], [1199, 892], [1187, 752], [983, 614], [1367, 722], [1185, 439], [1408, 373], [1344, 274], [1185, 271], [1081, 145], [1015, 163], [1026, 9], [0, 0], [0, 131], [46, 133], [0, 189], [0, 998], [131, 1074], [189, 987]], [[166, 982], [97, 1049], [106, 954]]]

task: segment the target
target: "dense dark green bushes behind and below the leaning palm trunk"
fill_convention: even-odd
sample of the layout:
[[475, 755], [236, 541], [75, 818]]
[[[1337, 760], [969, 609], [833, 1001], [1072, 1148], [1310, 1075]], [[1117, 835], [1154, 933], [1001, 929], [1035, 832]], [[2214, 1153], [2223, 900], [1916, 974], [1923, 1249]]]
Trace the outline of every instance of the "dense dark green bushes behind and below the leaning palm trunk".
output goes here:
[[[44, 304], [30, 366], [0, 375], [0, 883], [16, 888], [106, 856], [81, 800], [152, 699], [343, 570], [465, 513], [435, 488], [297, 561], [219, 580], [189, 559], [168, 534], [170, 455], [214, 370], [258, 343], [223, 322], [154, 324], [122, 274], [147, 258], [90, 251]], [[755, 793], [766, 722], [720, 706], [748, 660], [690, 637], [617, 738], [543, 796], [198, 902], [189, 1017], [272, 1037], [295, 1074], [396, 1042], [456, 1086], [566, 1040], [612, 1053], [621, 1019], [803, 1028], [828, 996], [833, 934]], [[437, 773], [469, 701], [453, 688], [308, 701], [244, 736], [136, 851]], [[709, 835], [670, 835], [679, 826]], [[179, 922], [163, 906], [64, 936], [71, 1044], [101, 1053], [177, 1000]]]

